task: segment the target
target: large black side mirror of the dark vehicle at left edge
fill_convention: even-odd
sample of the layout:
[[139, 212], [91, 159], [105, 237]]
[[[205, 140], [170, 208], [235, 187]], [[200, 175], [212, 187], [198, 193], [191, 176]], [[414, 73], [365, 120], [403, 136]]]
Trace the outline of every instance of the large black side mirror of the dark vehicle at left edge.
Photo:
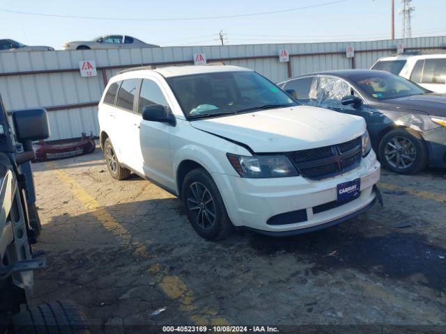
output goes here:
[[43, 108], [22, 109], [13, 112], [17, 141], [40, 141], [49, 137], [47, 111]]

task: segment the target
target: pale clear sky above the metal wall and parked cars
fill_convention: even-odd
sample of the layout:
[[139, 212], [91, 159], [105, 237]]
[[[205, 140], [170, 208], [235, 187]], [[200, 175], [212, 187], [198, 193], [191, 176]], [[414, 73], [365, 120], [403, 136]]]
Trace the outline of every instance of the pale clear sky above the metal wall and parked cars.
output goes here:
[[[61, 49], [66, 42], [91, 40], [105, 34], [131, 35], [160, 46], [219, 45], [220, 31], [227, 45], [390, 39], [391, 0], [334, 1], [0, 1], [0, 38], [11, 38], [26, 45], [49, 45], [55, 49]], [[330, 4], [289, 10], [323, 3]], [[413, 0], [412, 6], [415, 7], [413, 37], [446, 35], [446, 0]], [[400, 8], [401, 1], [395, 0], [396, 38], [402, 35]], [[95, 19], [25, 15], [4, 10]], [[197, 19], [281, 10], [282, 13], [268, 15]]]

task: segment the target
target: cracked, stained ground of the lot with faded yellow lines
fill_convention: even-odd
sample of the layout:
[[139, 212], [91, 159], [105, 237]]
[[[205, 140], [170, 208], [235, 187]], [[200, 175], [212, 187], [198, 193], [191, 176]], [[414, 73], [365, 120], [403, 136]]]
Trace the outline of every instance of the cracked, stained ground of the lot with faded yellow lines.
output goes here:
[[210, 242], [177, 198], [136, 176], [113, 180], [100, 150], [33, 168], [43, 221], [36, 248], [47, 255], [34, 303], [72, 299], [97, 330], [446, 324], [445, 170], [383, 170], [385, 207], [334, 228]]

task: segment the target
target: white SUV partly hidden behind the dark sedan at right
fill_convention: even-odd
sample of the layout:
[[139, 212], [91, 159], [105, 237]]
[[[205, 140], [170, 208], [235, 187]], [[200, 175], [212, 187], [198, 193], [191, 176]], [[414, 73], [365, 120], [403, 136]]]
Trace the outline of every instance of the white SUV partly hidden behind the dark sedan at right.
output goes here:
[[401, 54], [378, 59], [371, 70], [384, 70], [435, 93], [446, 93], [446, 54]]

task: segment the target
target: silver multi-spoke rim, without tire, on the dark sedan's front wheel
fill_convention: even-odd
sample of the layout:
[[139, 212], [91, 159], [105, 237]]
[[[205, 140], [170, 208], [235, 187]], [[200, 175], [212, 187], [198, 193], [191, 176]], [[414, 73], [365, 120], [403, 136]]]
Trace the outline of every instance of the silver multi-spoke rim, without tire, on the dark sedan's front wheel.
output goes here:
[[415, 162], [417, 149], [409, 138], [398, 136], [387, 141], [384, 154], [390, 166], [405, 169], [412, 166]]

